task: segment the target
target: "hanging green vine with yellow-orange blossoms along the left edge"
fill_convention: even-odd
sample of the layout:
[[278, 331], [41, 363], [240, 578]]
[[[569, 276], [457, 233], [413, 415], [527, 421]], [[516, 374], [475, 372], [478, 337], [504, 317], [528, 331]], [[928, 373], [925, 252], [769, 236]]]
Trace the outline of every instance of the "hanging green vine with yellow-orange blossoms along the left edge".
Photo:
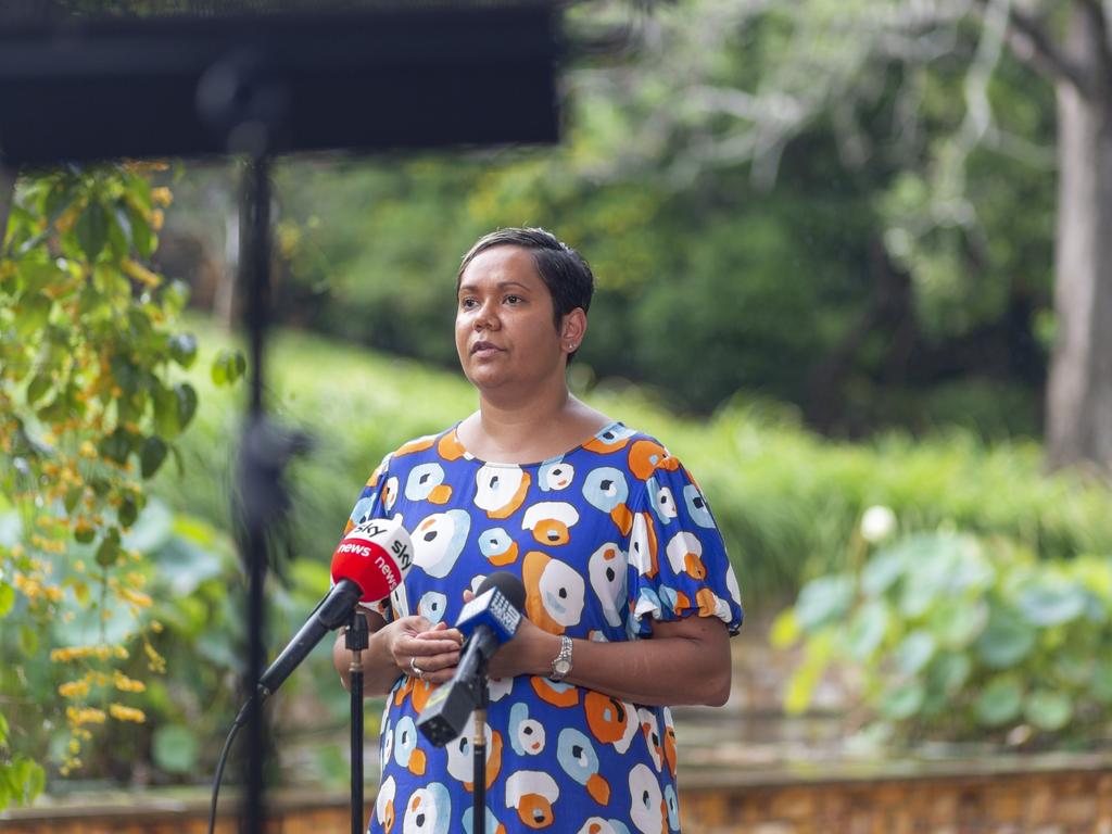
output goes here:
[[[131, 544], [147, 479], [177, 459], [196, 389], [177, 373], [188, 289], [147, 264], [161, 163], [21, 179], [0, 260], [0, 807], [128, 736], [165, 671], [151, 570]], [[50, 744], [43, 744], [49, 738]], [[49, 756], [48, 756], [49, 747]]]

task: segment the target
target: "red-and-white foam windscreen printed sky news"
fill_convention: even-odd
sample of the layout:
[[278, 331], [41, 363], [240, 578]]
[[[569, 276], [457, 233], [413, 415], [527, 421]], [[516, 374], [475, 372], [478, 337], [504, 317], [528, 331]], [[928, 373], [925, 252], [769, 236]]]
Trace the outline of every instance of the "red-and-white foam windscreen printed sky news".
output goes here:
[[350, 579], [359, 602], [386, 599], [413, 565], [413, 544], [400, 518], [374, 519], [353, 528], [332, 554], [332, 582]]

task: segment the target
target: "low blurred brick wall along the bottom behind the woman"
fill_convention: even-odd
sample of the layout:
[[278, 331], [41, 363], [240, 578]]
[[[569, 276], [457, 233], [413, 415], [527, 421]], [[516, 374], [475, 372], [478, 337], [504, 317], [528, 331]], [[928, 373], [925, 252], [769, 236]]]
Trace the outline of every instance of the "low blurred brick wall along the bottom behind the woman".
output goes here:
[[[836, 774], [818, 764], [763, 774], [682, 771], [679, 803], [684, 834], [1112, 834], [1112, 754], [890, 763]], [[271, 834], [350, 830], [342, 794], [282, 794], [271, 810]], [[207, 820], [200, 797], [148, 793], [9, 810], [0, 832], [205, 834]], [[219, 834], [237, 830], [230, 815], [218, 826]]]

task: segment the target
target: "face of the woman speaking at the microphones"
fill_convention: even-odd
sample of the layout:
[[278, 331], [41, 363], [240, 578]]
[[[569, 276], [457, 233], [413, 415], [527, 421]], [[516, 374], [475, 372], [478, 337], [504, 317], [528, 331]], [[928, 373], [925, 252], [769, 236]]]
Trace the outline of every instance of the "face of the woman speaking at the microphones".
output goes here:
[[456, 350], [480, 390], [542, 386], [566, 365], [553, 298], [533, 256], [517, 246], [477, 255], [459, 281]]

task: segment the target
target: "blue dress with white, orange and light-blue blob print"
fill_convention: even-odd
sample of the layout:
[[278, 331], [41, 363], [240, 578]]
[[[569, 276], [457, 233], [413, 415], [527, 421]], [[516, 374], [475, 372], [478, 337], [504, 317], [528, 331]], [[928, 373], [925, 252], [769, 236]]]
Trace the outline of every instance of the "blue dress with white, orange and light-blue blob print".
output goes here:
[[[652, 620], [742, 623], [737, 579], [698, 486], [655, 439], [620, 423], [539, 464], [479, 460], [455, 428], [407, 443], [367, 481], [348, 528], [400, 516], [414, 566], [378, 606], [389, 620], [456, 622], [465, 589], [520, 576], [525, 613], [553, 634], [649, 637]], [[416, 719], [433, 686], [403, 675], [381, 719], [371, 832], [471, 832], [473, 727], [444, 748]], [[520, 675], [490, 682], [487, 832], [679, 830], [667, 707]]]

